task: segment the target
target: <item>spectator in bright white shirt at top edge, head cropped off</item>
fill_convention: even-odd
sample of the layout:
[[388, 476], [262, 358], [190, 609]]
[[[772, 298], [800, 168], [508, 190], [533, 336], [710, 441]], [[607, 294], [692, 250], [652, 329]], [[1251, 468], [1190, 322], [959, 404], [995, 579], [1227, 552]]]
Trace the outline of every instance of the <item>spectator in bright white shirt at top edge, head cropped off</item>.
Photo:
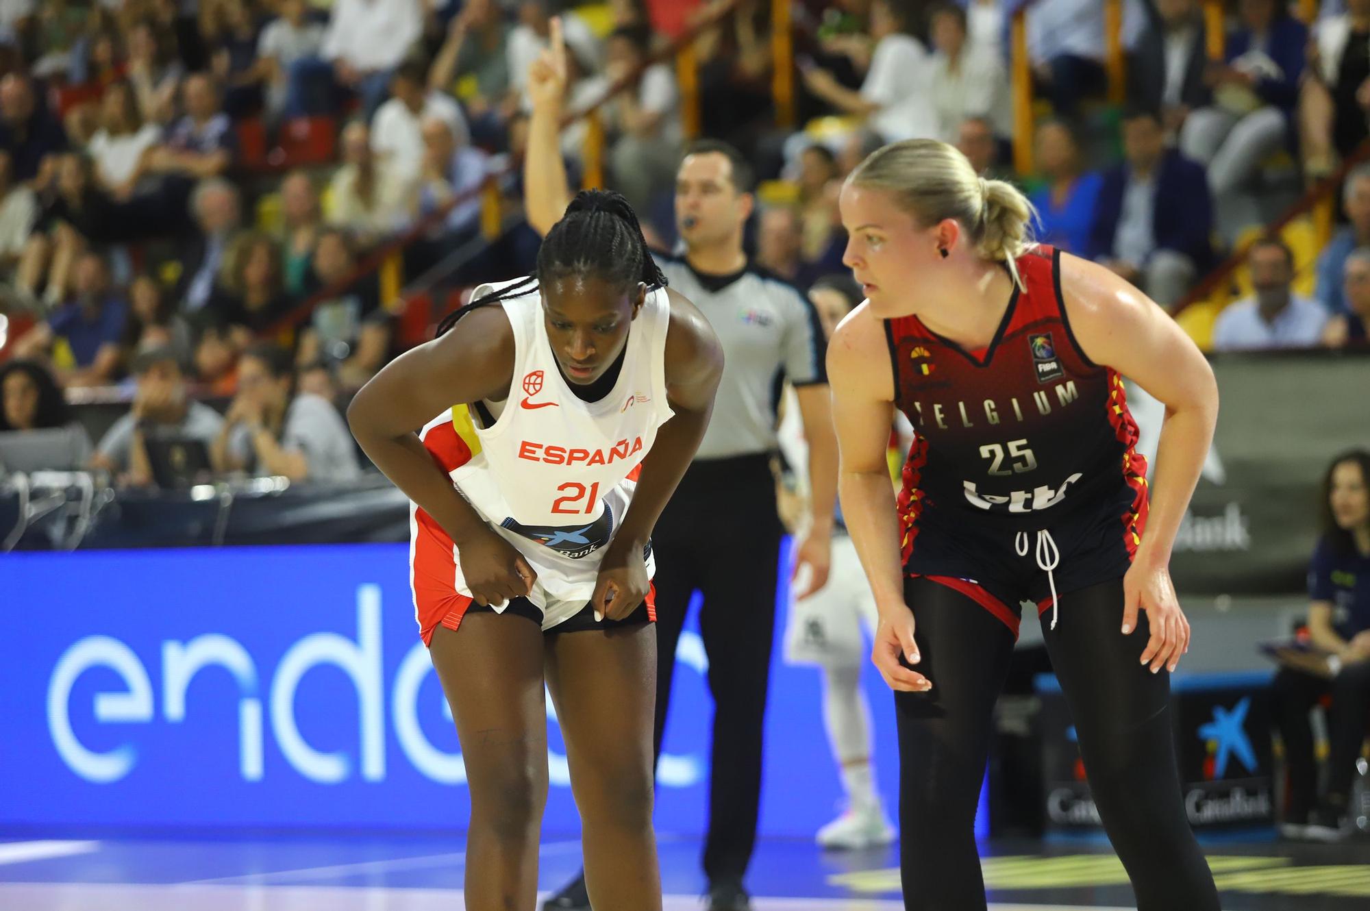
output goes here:
[[421, 0], [334, 0], [323, 59], [338, 84], [362, 96], [367, 116], [385, 100], [390, 71], [423, 33]]

